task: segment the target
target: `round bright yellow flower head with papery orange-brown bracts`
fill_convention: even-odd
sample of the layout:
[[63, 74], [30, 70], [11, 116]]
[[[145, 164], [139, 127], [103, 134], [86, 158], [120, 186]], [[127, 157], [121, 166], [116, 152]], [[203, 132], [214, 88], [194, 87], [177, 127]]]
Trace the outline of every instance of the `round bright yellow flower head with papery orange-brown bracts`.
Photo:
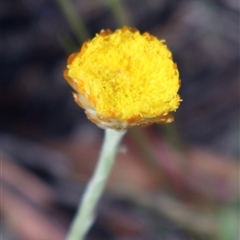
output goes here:
[[164, 40], [134, 28], [96, 34], [69, 56], [64, 77], [101, 128], [170, 123], [181, 101], [177, 65]]

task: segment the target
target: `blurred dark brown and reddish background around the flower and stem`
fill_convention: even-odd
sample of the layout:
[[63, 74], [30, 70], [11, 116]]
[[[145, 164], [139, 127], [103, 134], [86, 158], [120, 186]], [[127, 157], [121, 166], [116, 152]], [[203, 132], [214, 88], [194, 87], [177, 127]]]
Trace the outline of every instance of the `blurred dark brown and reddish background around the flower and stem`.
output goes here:
[[123, 25], [165, 39], [175, 122], [125, 136], [88, 240], [239, 239], [238, 0], [1, 2], [1, 239], [63, 240], [103, 131], [62, 76], [69, 54]]

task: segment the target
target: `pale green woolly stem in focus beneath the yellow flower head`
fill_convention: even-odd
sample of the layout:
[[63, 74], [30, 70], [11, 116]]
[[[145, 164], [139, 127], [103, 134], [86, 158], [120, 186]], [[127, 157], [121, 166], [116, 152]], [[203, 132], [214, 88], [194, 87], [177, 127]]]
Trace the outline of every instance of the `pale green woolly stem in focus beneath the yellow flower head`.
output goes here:
[[71, 225], [67, 240], [83, 240], [95, 218], [95, 209], [113, 166], [125, 131], [105, 130], [105, 137], [94, 174]]

